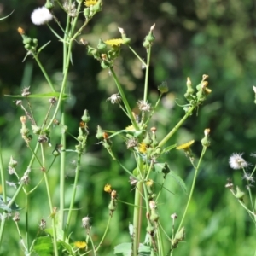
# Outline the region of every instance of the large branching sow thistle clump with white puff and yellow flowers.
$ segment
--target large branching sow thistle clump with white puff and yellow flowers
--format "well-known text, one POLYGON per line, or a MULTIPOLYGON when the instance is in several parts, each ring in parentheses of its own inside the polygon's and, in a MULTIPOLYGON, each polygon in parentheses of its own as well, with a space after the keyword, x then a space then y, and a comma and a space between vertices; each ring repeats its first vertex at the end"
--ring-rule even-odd
MULTIPOLYGON (((99 255, 102 242, 108 235, 109 224, 113 218, 113 214, 119 211, 118 205, 125 201, 124 195, 119 195, 119 191, 113 189, 111 181, 105 185, 104 191, 109 194, 108 210, 106 205, 106 211, 109 211, 109 218, 106 220, 106 230, 104 231, 102 238, 97 240, 93 236, 93 226, 91 225, 90 217, 85 216, 81 220, 81 229, 84 229, 84 236, 79 241, 73 241, 73 234, 76 230, 73 230, 71 225, 73 219, 74 201, 77 194, 77 187, 80 177, 81 169, 81 157, 84 154, 87 139, 89 137, 90 130, 90 114, 88 110, 84 110, 80 123, 78 124, 78 135, 74 135, 73 139, 75 144, 73 148, 66 147, 67 140, 67 123, 65 119, 64 107, 67 102, 67 77, 68 71, 72 64, 72 49, 73 44, 77 44, 79 36, 83 33, 84 27, 90 22, 90 20, 96 15, 97 12, 102 10, 101 0, 90 1, 50 1, 47 0, 44 7, 40 7, 32 12, 32 23, 39 26, 49 26, 50 32, 53 32, 57 38, 63 44, 63 77, 61 80, 61 90, 56 90, 56 86, 52 79, 49 77, 48 72, 45 70, 43 63, 40 61, 40 52, 48 46, 49 43, 44 44, 40 48, 40 42, 37 38, 31 38, 26 34, 24 29, 18 28, 18 32, 22 38, 24 48, 26 49, 26 58, 32 57, 40 67, 44 78, 49 84, 49 92, 45 94, 32 94, 30 87, 25 88, 20 96, 15 96, 17 100, 15 104, 18 108, 22 109, 23 115, 20 117, 20 135, 21 139, 26 143, 27 150, 32 152, 31 159, 28 160, 29 165, 23 174, 20 175, 16 172, 16 168, 19 163, 15 158, 10 157, 8 170, 9 175, 15 175, 17 182, 8 183, 5 168, 3 167, 3 160, 0 158, 1 166, 1 181, 3 195, 1 195, 1 227, 0 227, 0 242, 3 241, 4 226, 7 221, 10 221, 10 216, 13 217, 17 232, 20 236, 20 246, 25 255, 32 255, 37 253, 38 255, 99 255), (58 18, 54 15, 54 10, 57 8, 55 3, 63 10, 67 15, 66 25, 63 26, 58 18), (84 20, 82 26, 78 27, 78 20, 84 20), (56 22, 60 27, 59 31, 55 31, 50 22, 56 22), (61 36, 62 34, 62 36, 61 36), (38 117, 34 116, 32 112, 32 97, 38 98, 38 101, 44 101, 45 98, 49 98, 48 109, 44 113, 44 121, 39 124, 38 117), (52 145, 53 130, 55 127, 61 127, 61 133, 58 140, 60 143, 52 145), (47 157, 46 152, 48 148, 52 147, 52 158, 47 157), (69 205, 65 204, 66 186, 65 179, 65 165, 67 152, 72 151, 76 154, 76 170, 73 180, 73 192, 69 205), (54 191, 49 186, 49 172, 56 164, 55 160, 60 158, 59 170, 60 170, 60 201, 55 202, 52 200, 54 191), (31 184, 31 177, 33 166, 40 166, 41 180, 33 187, 31 184), (9 186, 15 187, 15 194, 9 194, 9 186), (44 218, 38 218, 39 228, 42 231, 42 236, 37 236, 31 242, 28 240, 29 222, 26 218, 28 215, 27 203, 24 209, 15 203, 18 195, 24 196, 24 201, 29 201, 29 196, 32 195, 39 187, 45 186, 45 193, 48 196, 49 204, 49 220, 44 218), (67 215, 64 215, 64 212, 67 215), (20 231, 20 218, 26 219, 26 234, 22 234, 20 231)), ((129 120, 130 125, 120 131, 108 131, 108 127, 97 126, 96 143, 102 144, 111 159, 118 162, 120 169, 127 173, 127 179, 130 180, 132 191, 134 191, 134 201, 128 202, 133 207, 133 216, 131 217, 131 224, 129 225, 130 241, 119 244, 114 247, 114 254, 116 255, 172 255, 174 249, 178 247, 181 241, 185 239, 185 227, 183 225, 186 213, 189 209, 189 202, 193 195, 195 188, 195 181, 201 165, 201 160, 206 153, 207 147, 210 146, 209 134, 210 129, 204 131, 204 137, 201 140, 202 152, 199 160, 195 160, 195 155, 192 152, 191 146, 194 143, 190 141, 183 145, 177 146, 168 145, 170 138, 173 134, 183 125, 183 122, 192 115, 192 113, 199 113, 201 104, 205 102, 207 96, 211 93, 211 90, 207 87, 207 75, 203 75, 201 82, 195 86, 192 86, 191 80, 188 78, 186 83, 186 93, 184 95, 187 101, 184 104, 183 118, 180 119, 176 125, 173 126, 165 136, 158 133, 157 126, 151 126, 150 120, 157 111, 160 105, 161 98, 166 92, 168 92, 168 85, 163 82, 158 86, 159 97, 156 102, 150 102, 148 99, 148 74, 151 49, 154 44, 154 26, 151 26, 143 41, 143 47, 146 50, 147 58, 143 61, 137 52, 131 47, 131 38, 128 38, 123 28, 119 28, 121 34, 120 38, 102 40, 99 39, 99 43, 94 46, 85 44, 88 55, 91 55, 97 61, 99 65, 108 70, 112 75, 113 82, 116 85, 116 93, 107 99, 106 104, 109 102, 113 104, 113 108, 117 105, 124 112, 125 117, 129 120), (128 47, 131 49, 131 53, 141 61, 142 66, 145 69, 144 90, 143 96, 137 99, 137 107, 140 113, 134 113, 132 108, 133 103, 128 102, 127 92, 120 84, 118 75, 115 73, 115 60, 119 57, 122 47, 128 47), (125 148, 134 157, 133 170, 125 167, 122 160, 119 160, 115 154, 117 148, 115 148, 115 137, 121 137, 125 148), (172 150, 176 148, 183 150, 184 154, 190 160, 191 165, 195 169, 195 174, 191 188, 189 190, 189 197, 184 208, 183 215, 177 216, 176 213, 167 212, 170 215, 170 224, 164 224, 161 222, 161 216, 158 212, 158 206, 160 202, 160 195, 162 189, 165 189, 166 176, 174 177, 183 189, 185 184, 181 177, 178 177, 175 172, 172 172, 167 162, 163 162, 161 156, 163 154, 171 154, 172 150), (160 189, 155 189, 154 180, 155 174, 162 177, 162 183, 160 189), (181 219, 177 224, 177 220, 181 219), (169 226, 169 229, 168 229, 169 226), (141 233, 146 231, 146 238, 142 242, 141 233), (168 241, 169 247, 164 247, 165 241, 168 241)), ((82 42, 83 43, 83 42, 82 42)), ((75 60, 74 60, 75 61, 75 60)), ((85 91, 86 93, 86 91, 85 91)), ((82 114, 82 113, 81 113, 82 114)), ((72 136, 72 135, 71 135, 72 136)), ((56 141, 56 138, 55 138, 56 141)), ((86 195, 86 193, 85 193, 86 195)), ((161 201, 162 203, 162 201, 161 201)), ((32 211, 32 210, 31 210, 32 211)), ((79 209, 83 212, 83 209, 79 209)), ((30 214, 32 214, 30 212, 30 214)), ((86 215, 86 212, 84 212, 86 215)), ((92 216, 93 217, 93 216, 92 216)), ((127 224, 128 230, 128 224, 127 224)))

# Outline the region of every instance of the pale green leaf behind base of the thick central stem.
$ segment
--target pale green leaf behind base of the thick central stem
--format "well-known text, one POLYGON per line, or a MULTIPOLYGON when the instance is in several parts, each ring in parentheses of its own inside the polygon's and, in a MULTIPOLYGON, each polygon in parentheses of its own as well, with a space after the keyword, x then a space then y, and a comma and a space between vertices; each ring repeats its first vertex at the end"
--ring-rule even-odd
MULTIPOLYGON (((132 254, 132 243, 124 242, 114 247, 113 253, 118 256, 131 256, 132 254)), ((150 247, 143 245, 143 243, 139 244, 138 255, 146 256, 150 255, 150 247)))

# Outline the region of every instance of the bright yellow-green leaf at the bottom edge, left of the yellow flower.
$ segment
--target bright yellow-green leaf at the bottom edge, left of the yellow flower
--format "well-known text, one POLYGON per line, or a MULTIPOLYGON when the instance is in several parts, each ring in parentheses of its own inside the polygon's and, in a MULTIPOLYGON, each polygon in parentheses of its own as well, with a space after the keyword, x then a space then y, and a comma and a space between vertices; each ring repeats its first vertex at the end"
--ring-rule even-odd
POLYGON ((49 236, 38 237, 32 247, 33 251, 40 256, 53 255, 53 243, 49 236))

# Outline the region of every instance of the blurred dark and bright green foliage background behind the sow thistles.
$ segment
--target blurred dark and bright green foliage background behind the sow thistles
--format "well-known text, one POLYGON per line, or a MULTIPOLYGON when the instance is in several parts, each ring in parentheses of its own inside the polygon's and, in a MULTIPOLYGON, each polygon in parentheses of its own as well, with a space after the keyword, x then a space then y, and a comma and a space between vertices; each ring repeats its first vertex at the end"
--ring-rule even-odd
MULTIPOLYGON (((150 125, 158 128, 158 137, 162 138, 167 131, 183 116, 183 109, 175 101, 184 103, 186 78, 190 77, 194 85, 201 81, 201 75, 209 75, 208 87, 212 94, 170 140, 169 144, 184 143, 195 139, 195 154, 201 154, 200 140, 205 128, 211 129, 212 145, 207 150, 201 165, 195 195, 189 215, 186 218, 186 241, 179 245, 175 255, 222 256, 254 255, 255 229, 246 212, 239 207, 230 191, 224 189, 227 178, 246 190, 245 181, 239 171, 234 172, 228 165, 230 154, 244 153, 245 159, 252 164, 255 159, 250 154, 256 151, 254 120, 254 93, 256 61, 256 12, 252 0, 184 0, 184 1, 103 1, 103 10, 87 26, 81 38, 96 46, 98 39, 119 38, 118 26, 125 29, 131 38, 131 45, 142 56, 143 38, 150 26, 154 29, 155 43, 152 50, 152 63, 149 81, 149 99, 155 102, 158 96, 157 85, 166 81, 169 93, 162 99, 160 108, 155 113, 150 125)), ((19 108, 15 107, 12 98, 4 95, 18 95, 22 88, 31 86, 32 93, 48 92, 49 88, 35 61, 26 55, 22 40, 17 32, 21 26, 32 38, 38 38, 39 45, 51 43, 40 54, 45 69, 55 84, 61 82, 61 43, 49 32, 47 26, 33 26, 30 20, 32 10, 44 5, 44 1, 18 0, 1 1, 0 17, 15 12, 0 22, 0 128, 3 160, 7 170, 9 157, 18 160, 17 172, 26 171, 31 153, 20 137, 19 108)), ((55 16, 60 22, 65 16, 60 9, 55 9, 55 16)), ((80 24, 83 18, 81 17, 80 24)), ((52 26, 58 30, 52 22, 52 26)), ((123 84, 131 106, 143 98, 143 69, 129 49, 123 47, 122 54, 114 67, 123 84)), ((74 136, 84 109, 91 116, 89 124, 90 137, 87 152, 83 156, 81 177, 79 181, 76 207, 73 212, 74 241, 84 239, 81 219, 91 218, 92 233, 100 241, 108 219, 109 195, 103 192, 106 183, 111 183, 122 201, 132 203, 133 190, 128 182, 129 177, 110 159, 95 137, 96 125, 103 129, 124 129, 130 125, 128 119, 116 105, 106 99, 116 93, 113 79, 108 70, 102 70, 99 63, 86 55, 84 45, 75 44, 73 48, 73 67, 69 73, 68 88, 70 99, 67 103, 68 131, 74 136)), ((47 111, 47 101, 32 100, 32 109, 38 124, 43 121, 47 111)), ((60 142, 61 129, 52 131, 52 143, 60 142)), ((75 142, 68 137, 67 148, 73 149, 75 142)), ((125 144, 118 138, 113 139, 113 150, 119 155, 122 163, 132 170, 134 160, 127 152, 125 144)), ((48 148, 51 158, 52 148, 48 148)), ((76 155, 67 154, 67 201, 73 186, 73 160, 76 155)), ((191 184, 193 170, 189 160, 182 152, 172 151, 166 154, 166 160, 172 171, 183 177, 188 188, 191 184)), ((55 205, 58 204, 58 163, 49 173, 55 205)), ((32 170, 31 187, 41 178, 37 166, 32 170)), ((8 180, 15 182, 14 177, 8 180)), ((172 177, 166 178, 166 188, 175 195, 165 191, 162 195, 159 212, 161 224, 171 234, 170 215, 176 212, 181 215, 187 195, 172 177)), ((157 187, 156 187, 157 189, 157 187)), ((252 188, 255 191, 254 188, 252 188)), ((30 230, 31 239, 38 234, 41 218, 49 220, 47 197, 44 183, 30 197, 30 230), (45 204, 45 206, 44 206, 45 204), (44 208, 42 209, 42 206, 44 208)), ((9 196, 15 192, 9 188, 9 196)), ((246 198, 247 201, 247 198, 246 198)), ((21 208, 25 206, 23 196, 17 200, 21 208)), ((24 234, 24 212, 20 212, 20 225, 24 234)), ((113 255, 113 247, 120 242, 130 241, 128 224, 132 222, 132 207, 119 203, 113 214, 113 221, 107 239, 102 244, 99 255, 113 255)), ((177 218, 178 221, 179 218, 177 218)), ((7 232, 3 241, 1 255, 23 255, 20 249, 19 236, 13 221, 8 221, 7 232)), ((166 244, 167 247, 167 244, 166 244)))

